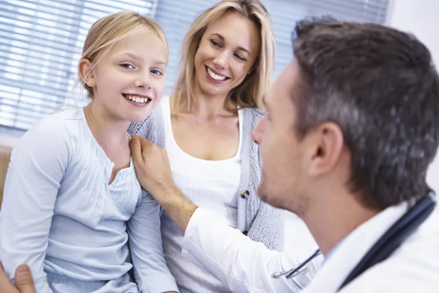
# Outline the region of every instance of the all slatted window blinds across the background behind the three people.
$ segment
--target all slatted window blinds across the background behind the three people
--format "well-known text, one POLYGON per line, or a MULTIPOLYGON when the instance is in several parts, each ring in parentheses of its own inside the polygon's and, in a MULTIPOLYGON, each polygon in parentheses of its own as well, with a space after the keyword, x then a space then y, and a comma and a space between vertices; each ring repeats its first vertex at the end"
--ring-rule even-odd
MULTIPOLYGON (((169 43, 166 94, 180 72, 181 42, 201 10, 217 0, 0 0, 0 126, 27 130, 71 103, 85 35, 99 18, 131 10, 155 18, 169 43)), ((275 77, 292 60, 296 21, 330 14, 384 23, 388 0, 262 0, 276 37, 275 77)))

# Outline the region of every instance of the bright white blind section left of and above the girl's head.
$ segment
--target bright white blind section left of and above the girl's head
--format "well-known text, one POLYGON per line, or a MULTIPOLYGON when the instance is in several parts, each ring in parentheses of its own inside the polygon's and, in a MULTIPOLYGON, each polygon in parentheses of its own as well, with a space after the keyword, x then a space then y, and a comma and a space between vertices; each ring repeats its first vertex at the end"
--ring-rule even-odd
MULTIPOLYGON (((26 130, 68 103, 90 26, 157 0, 0 0, 0 125, 26 130)), ((78 99, 77 93, 73 99, 78 99)))

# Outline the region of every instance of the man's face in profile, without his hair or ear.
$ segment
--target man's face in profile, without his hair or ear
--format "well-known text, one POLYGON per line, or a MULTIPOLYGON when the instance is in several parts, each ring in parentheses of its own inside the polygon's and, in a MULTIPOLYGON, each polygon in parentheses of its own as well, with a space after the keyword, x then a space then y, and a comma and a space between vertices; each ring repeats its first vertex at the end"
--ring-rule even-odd
POLYGON ((292 101, 300 82, 299 64, 290 63, 264 96, 268 114, 255 127, 252 138, 262 157, 260 198, 282 209, 294 211, 301 204, 303 144, 296 131, 297 109, 292 101), (300 184, 298 184, 300 183, 300 184))

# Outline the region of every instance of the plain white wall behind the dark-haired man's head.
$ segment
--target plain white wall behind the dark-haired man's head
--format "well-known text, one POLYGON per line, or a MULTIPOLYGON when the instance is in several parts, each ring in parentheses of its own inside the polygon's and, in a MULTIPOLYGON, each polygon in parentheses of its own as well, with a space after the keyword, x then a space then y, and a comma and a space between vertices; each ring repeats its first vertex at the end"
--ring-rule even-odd
MULTIPOLYGON (((388 25, 413 33, 433 55, 439 68, 439 1, 393 0, 388 25)), ((430 166, 427 182, 439 193, 439 156, 430 166)))

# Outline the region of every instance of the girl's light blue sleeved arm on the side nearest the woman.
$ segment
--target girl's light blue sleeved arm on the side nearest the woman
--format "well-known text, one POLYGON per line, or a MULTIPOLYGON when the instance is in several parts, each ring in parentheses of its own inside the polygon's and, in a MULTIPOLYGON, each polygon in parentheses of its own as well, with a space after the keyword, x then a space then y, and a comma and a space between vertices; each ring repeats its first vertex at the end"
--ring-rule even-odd
POLYGON ((128 221, 127 230, 139 292, 178 292, 161 246, 160 206, 143 188, 141 202, 128 221))

